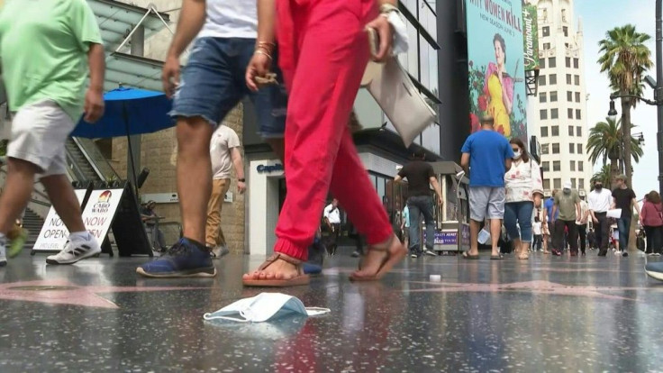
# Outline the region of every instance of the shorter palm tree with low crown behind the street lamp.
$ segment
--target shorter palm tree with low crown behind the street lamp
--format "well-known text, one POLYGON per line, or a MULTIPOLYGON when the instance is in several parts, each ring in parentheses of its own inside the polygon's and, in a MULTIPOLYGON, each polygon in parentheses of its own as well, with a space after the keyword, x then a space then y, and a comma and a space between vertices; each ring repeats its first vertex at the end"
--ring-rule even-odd
MULTIPOLYGON (((631 124, 631 128, 635 125, 631 124)), ((631 131, 629 131, 629 135, 631 131)), ((623 131, 622 120, 615 121, 610 117, 605 118, 605 122, 596 123, 595 126, 589 130, 589 138, 587 140, 587 151, 589 151, 589 160, 593 164, 601 159, 602 165, 607 167, 608 160, 610 160, 609 177, 611 181, 620 173, 620 164, 625 163, 624 155, 626 154, 625 147, 623 146, 623 131)), ((640 146, 640 141, 631 136, 631 158, 636 163, 640 161, 643 151, 640 146)), ((629 162, 629 164, 631 164, 629 162)), ((605 183, 605 186, 610 186, 612 183, 605 183)))

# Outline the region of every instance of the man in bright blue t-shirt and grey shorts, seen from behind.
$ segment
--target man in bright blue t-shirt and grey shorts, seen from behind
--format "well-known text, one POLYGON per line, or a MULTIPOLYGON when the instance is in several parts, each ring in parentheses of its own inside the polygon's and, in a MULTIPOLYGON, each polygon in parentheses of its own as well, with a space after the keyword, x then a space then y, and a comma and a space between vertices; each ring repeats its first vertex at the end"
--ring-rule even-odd
POLYGON ((514 157, 511 144, 495 132, 492 117, 481 118, 481 130, 469 135, 463 144, 460 166, 469 175, 469 239, 465 259, 478 259, 478 233, 481 223, 490 222, 491 259, 502 259, 498 242, 504 219, 504 174, 514 157))

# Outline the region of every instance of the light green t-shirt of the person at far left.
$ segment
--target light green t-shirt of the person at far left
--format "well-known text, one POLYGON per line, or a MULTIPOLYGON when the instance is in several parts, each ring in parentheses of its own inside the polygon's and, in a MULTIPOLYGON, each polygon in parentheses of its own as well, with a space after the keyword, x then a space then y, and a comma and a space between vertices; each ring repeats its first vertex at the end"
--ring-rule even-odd
POLYGON ((0 10, 0 63, 9 110, 50 99, 77 122, 87 50, 101 32, 85 0, 8 0, 0 10))

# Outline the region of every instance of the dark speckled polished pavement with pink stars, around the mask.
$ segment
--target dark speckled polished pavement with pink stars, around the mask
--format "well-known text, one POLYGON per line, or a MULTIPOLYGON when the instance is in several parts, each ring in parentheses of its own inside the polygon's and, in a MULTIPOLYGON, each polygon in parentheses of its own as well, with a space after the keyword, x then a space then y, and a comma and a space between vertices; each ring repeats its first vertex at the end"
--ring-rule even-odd
POLYGON ((216 260, 213 279, 147 279, 135 274, 147 259, 22 255, 0 268, 0 372, 663 370, 663 282, 643 257, 488 259, 407 259, 353 284, 356 259, 340 253, 310 286, 281 290, 331 314, 247 324, 203 314, 269 291, 241 286, 260 258, 216 260))

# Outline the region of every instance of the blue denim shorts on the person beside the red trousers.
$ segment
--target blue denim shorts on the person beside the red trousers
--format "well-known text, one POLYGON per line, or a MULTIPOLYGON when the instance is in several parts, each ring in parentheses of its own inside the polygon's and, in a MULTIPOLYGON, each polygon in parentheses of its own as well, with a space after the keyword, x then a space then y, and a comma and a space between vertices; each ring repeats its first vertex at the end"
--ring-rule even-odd
POLYGON ((255 39, 197 39, 182 71, 170 116, 200 116, 216 127, 242 98, 249 96, 256 108, 259 134, 264 138, 283 137, 287 94, 276 53, 272 72, 277 74, 279 85, 251 92, 244 80, 255 44, 255 39))

